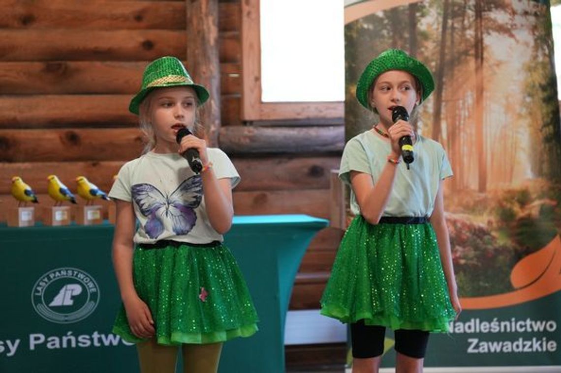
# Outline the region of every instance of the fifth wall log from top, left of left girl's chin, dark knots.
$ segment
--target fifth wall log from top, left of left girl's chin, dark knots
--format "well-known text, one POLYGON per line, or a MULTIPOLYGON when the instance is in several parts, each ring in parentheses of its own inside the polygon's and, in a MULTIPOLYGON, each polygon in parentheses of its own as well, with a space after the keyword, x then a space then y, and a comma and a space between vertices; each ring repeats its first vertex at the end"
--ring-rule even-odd
POLYGON ((137 128, 0 130, 0 162, 130 160, 142 151, 137 128))

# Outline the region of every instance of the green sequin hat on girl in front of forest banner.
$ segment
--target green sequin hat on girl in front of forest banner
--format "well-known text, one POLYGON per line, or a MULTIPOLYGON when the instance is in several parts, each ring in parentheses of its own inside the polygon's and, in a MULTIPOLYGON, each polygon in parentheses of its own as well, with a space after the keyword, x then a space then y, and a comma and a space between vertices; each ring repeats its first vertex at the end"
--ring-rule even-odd
POLYGON ((366 109, 373 109, 368 102, 368 91, 372 83, 381 73, 390 70, 406 71, 419 80, 421 83, 421 102, 425 101, 434 90, 433 75, 424 64, 401 49, 387 49, 370 61, 358 79, 356 98, 366 109))

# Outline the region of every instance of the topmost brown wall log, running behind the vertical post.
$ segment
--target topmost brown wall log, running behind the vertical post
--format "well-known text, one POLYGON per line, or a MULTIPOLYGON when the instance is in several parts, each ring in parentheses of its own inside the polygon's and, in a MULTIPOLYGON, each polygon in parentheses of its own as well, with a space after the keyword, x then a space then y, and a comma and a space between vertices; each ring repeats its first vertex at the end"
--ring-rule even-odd
MULTIPOLYGON (((3 1, 2 29, 185 30, 185 0, 3 1)), ((219 3, 219 31, 240 31, 240 3, 219 3)))

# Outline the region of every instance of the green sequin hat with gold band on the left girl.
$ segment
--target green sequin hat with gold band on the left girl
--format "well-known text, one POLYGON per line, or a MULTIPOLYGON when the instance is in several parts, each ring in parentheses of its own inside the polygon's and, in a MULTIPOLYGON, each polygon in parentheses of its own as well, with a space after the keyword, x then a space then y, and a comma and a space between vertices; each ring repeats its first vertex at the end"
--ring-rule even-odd
POLYGON ((195 84, 180 60, 176 57, 165 56, 146 66, 142 75, 140 92, 132 97, 128 110, 138 115, 140 103, 154 88, 175 86, 192 87, 199 98, 199 105, 203 105, 210 97, 209 91, 204 86, 195 84))

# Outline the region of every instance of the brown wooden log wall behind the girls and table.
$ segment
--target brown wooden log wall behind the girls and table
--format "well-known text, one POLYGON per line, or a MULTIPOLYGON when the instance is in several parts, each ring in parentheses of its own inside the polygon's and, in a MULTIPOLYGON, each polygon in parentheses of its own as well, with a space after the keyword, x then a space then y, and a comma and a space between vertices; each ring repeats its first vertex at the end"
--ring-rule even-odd
MULTIPOLYGON (((13 175, 46 206, 52 204, 49 174, 71 190, 76 176, 84 175, 108 191, 119 167, 142 148, 137 118, 127 110, 142 71, 162 55, 186 60, 189 35, 185 0, 0 0, 0 7, 2 222, 6 209, 17 204, 10 195, 13 175)), ((218 12, 218 142, 242 177, 234 190, 236 214, 329 218, 330 170, 339 165, 343 126, 242 123, 241 3, 221 0, 218 12), (316 139, 314 146, 309 138, 316 139)), ((314 239, 291 309, 318 308, 340 240, 338 229, 314 239)))

